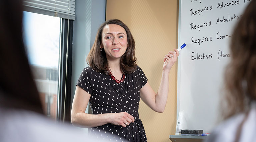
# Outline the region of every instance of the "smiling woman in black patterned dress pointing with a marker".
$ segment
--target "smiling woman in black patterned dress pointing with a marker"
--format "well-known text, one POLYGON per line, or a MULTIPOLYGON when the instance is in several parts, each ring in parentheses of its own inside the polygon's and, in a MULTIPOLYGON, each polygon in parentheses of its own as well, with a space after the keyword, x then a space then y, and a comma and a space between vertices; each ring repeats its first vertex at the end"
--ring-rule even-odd
POLYGON ((129 28, 117 19, 103 23, 87 57, 90 66, 77 82, 71 122, 94 127, 92 135, 103 131, 110 132, 108 139, 117 135, 123 137, 121 141, 147 141, 138 114, 140 98, 154 111, 164 111, 169 72, 179 55, 174 50, 164 57, 162 79, 155 93, 136 64, 135 42, 129 28), (88 102, 93 114, 84 113, 88 102))

